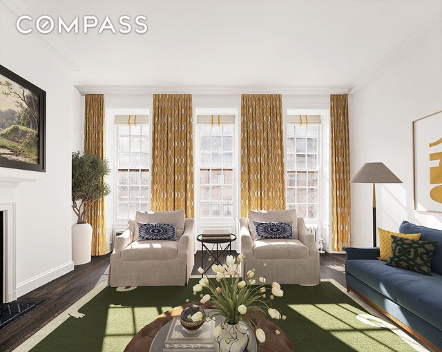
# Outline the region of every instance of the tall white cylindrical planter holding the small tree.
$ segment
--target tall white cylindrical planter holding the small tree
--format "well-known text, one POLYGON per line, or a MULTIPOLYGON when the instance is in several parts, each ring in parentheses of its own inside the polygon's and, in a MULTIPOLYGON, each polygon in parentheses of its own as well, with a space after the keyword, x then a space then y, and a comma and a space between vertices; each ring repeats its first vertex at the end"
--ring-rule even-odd
POLYGON ((92 253, 92 226, 75 224, 72 226, 72 260, 75 265, 90 262, 92 253))

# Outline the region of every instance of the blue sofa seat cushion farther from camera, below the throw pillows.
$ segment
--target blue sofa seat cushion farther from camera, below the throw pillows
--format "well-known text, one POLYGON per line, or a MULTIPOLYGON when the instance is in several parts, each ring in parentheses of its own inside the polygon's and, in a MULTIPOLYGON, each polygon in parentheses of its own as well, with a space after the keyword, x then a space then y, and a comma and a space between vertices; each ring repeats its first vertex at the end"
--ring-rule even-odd
POLYGON ((394 302, 397 302, 396 291, 399 284, 422 280, 432 281, 441 277, 440 275, 422 275, 407 269, 388 266, 381 260, 347 260, 345 268, 347 273, 394 302))

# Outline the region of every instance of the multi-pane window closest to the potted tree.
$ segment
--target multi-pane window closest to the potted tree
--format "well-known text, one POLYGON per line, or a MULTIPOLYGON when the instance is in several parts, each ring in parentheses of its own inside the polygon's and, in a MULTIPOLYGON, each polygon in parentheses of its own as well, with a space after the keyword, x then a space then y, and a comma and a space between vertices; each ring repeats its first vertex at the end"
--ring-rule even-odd
POLYGON ((137 124, 128 124, 129 118, 115 117, 117 219, 134 219, 136 211, 150 210, 151 141, 147 116, 137 117, 137 124), (126 121, 123 124, 121 120, 126 121))

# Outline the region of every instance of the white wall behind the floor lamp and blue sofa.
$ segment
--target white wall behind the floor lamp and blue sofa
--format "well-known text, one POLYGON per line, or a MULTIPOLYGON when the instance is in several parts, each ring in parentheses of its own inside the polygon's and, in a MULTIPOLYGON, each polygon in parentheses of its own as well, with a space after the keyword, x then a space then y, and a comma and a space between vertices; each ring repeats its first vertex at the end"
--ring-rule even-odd
MULTIPOLYGON (((377 186, 377 224, 390 231, 404 219, 442 228, 442 214, 413 210, 412 160, 412 121, 442 110, 442 30, 412 49, 349 96, 352 176, 365 162, 383 162, 403 181, 377 186)), ((369 184, 352 184, 352 244, 372 246, 369 184)))

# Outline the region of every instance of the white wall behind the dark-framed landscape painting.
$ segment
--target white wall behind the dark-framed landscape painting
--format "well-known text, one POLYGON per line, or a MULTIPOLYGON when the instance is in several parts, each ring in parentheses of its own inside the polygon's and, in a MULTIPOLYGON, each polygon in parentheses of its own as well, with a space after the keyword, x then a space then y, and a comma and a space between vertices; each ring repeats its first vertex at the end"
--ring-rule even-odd
POLYGON ((17 296, 73 270, 70 240, 70 67, 37 35, 15 31, 17 16, 0 3, 0 63, 46 90, 46 173, 0 168, 0 177, 26 177, 1 202, 17 203, 17 296))

